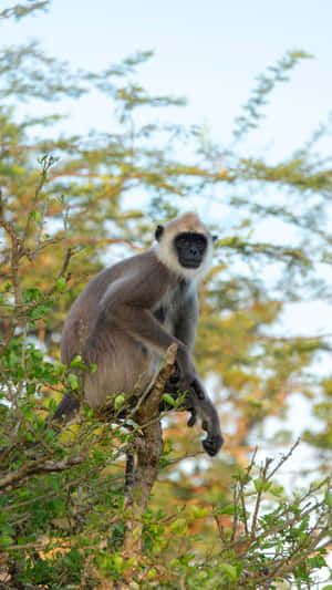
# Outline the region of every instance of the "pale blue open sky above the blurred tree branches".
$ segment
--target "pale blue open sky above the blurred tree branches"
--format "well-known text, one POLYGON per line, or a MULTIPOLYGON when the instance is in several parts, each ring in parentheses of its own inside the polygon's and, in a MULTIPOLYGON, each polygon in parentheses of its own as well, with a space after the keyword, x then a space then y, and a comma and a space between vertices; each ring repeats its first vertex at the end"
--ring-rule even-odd
MULTIPOLYGON (((0 0, 0 8, 12 3, 0 0)), ((262 132, 251 139, 252 147, 269 144, 282 157, 331 108, 331 0, 54 0, 46 14, 3 21, 0 44, 39 38, 49 53, 86 69, 153 49, 156 55, 142 68, 142 83, 152 92, 187 96, 189 106, 174 117, 209 124, 221 143, 230 139, 255 75, 286 50, 303 49, 315 59, 304 61, 292 83, 277 90, 262 132)), ((108 112, 106 101, 84 100, 75 105, 71 131, 103 128, 108 112)))

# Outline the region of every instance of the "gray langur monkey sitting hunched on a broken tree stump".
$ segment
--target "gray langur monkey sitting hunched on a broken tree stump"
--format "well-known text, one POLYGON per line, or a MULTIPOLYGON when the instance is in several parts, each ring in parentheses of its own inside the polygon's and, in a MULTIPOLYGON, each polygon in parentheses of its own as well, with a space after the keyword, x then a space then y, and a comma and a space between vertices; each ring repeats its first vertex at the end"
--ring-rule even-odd
MULTIPOLYGON (((131 401, 137 385, 142 393, 175 342, 176 376, 165 391, 175 397, 187 391, 188 425, 200 418, 207 432, 203 446, 214 456, 224 443, 219 418, 191 354, 199 314, 197 282, 210 267, 216 238, 193 213, 158 226, 155 237, 156 246, 87 283, 64 322, 61 360, 70 365, 80 354, 87 366, 97 366, 84 376, 84 397, 97 408, 116 393, 131 401)), ((77 408, 79 401, 66 393, 54 418, 69 418, 77 408)))

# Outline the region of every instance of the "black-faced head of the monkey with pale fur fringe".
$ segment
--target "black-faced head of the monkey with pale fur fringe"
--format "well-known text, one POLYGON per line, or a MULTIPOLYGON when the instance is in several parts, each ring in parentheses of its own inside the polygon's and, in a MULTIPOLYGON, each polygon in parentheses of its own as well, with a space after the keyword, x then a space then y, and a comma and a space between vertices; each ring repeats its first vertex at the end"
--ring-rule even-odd
POLYGON ((188 213, 158 226, 155 237, 157 257, 176 275, 190 280, 209 269, 217 237, 211 236, 197 215, 188 213))

